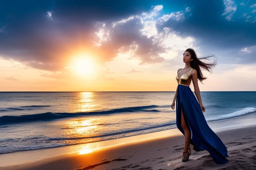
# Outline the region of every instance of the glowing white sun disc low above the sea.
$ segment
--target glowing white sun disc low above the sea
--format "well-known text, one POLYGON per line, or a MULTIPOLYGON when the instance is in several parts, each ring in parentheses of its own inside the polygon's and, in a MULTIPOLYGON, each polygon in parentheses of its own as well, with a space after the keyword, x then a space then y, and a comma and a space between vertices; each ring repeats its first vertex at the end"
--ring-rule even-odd
POLYGON ((74 58, 73 68, 79 75, 91 75, 93 73, 93 62, 89 57, 74 58))

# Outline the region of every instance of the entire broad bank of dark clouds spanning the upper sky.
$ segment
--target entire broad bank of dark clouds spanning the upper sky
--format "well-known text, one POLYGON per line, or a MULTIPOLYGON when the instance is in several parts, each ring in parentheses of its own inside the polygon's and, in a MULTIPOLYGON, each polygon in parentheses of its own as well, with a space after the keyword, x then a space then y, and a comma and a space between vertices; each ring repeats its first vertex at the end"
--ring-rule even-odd
MULTIPOLYGON (((225 15, 233 16, 236 4, 224 2, 225 15)), ((24 8, 4 28, 8 34, 0 34, 1 55, 29 68, 65 72, 77 51, 89 51, 89 56, 101 65, 119 53, 130 53, 130 59, 137 59, 143 65, 169 62, 199 42, 220 48, 255 42, 252 27, 223 24, 215 15, 207 13, 210 7, 222 13, 222 2, 182 5, 183 10, 168 13, 164 11, 169 10, 168 6, 142 6, 142 1, 80 3, 83 8, 77 8, 73 2, 60 2, 57 10, 42 4, 38 6, 43 6, 43 10, 35 8, 33 12, 24 8), (87 3, 93 10, 87 8, 87 3), (236 34, 238 31, 243 31, 243 36, 236 34), (238 38, 241 41, 233 41, 238 38)))

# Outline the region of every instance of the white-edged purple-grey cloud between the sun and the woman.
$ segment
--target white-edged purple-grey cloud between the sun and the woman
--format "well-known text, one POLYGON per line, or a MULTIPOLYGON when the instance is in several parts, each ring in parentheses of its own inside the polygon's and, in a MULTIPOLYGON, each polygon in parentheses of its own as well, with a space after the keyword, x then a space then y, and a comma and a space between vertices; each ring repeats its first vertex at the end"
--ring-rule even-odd
MULTIPOLYGON (((155 6, 153 9, 161 10, 162 8, 155 6)), ((190 11, 189 8, 186 9, 190 11)), ((164 15, 164 21, 170 19, 179 20, 181 16, 185 19, 184 13, 187 12, 172 12, 168 17, 164 15)), ((113 58, 117 55, 117 52, 129 52, 131 53, 130 59, 136 58, 141 60, 139 65, 164 62, 165 58, 161 57, 160 54, 165 53, 169 47, 162 44, 164 39, 161 38, 164 37, 160 38, 160 36, 158 36, 162 33, 158 32, 156 28, 157 24, 164 21, 159 20, 159 18, 147 20, 150 19, 151 16, 151 13, 150 15, 145 13, 141 16, 133 15, 113 22, 111 27, 109 23, 102 23, 101 27, 99 27, 100 31, 96 33, 99 36, 98 41, 95 41, 95 43, 98 44, 99 49, 103 50, 104 54, 107 55, 106 58, 113 58)), ((154 16, 156 17, 157 15, 154 16)), ((163 16, 160 18, 163 18, 163 16)), ((166 33, 165 35, 168 34, 166 33)))

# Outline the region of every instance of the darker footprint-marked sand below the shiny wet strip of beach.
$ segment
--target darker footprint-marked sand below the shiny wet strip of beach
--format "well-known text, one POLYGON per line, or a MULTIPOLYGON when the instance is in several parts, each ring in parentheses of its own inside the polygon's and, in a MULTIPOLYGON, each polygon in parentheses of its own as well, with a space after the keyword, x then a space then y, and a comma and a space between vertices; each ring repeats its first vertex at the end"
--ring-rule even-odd
MULTIPOLYGON (((186 166, 191 167, 190 169, 196 167, 207 168, 208 166, 211 168, 215 167, 214 169, 221 169, 229 166, 244 166, 246 160, 248 164, 247 169, 256 168, 256 125, 243 125, 237 128, 219 130, 216 134, 228 149, 230 157, 228 158, 229 162, 226 164, 216 164, 208 151, 197 152, 193 150, 193 147, 191 147, 192 154, 189 157, 189 161, 181 162, 184 136, 176 133, 151 139, 130 141, 94 150, 84 148, 84 153, 70 152, 21 164, 2 166, 1 169, 85 170, 93 168, 94 170, 102 170, 121 167, 132 169, 134 166, 142 169, 175 169, 178 167, 186 169, 186 166)), ((32 154, 31 156, 35 155, 32 154)), ((13 157, 12 159, 17 161, 19 158, 13 157)))

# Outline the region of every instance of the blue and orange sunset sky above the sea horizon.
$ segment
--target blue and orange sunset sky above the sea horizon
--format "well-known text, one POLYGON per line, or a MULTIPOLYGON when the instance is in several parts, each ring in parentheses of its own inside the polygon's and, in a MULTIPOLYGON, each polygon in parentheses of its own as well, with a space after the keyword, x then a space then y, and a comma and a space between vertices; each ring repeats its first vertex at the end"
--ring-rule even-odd
POLYGON ((255 30, 255 0, 0 1, 0 91, 176 91, 187 48, 200 91, 255 91, 255 30))

